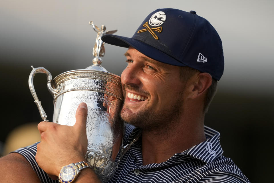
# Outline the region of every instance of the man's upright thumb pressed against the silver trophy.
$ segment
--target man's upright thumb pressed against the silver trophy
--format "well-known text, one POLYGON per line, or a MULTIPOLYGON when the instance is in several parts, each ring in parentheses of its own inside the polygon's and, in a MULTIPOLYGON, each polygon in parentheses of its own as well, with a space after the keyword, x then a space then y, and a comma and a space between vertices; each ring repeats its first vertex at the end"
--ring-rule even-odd
POLYGON ((84 130, 86 130, 86 116, 88 114, 88 107, 86 105, 86 103, 82 102, 81 104, 79 104, 77 110, 76 110, 76 114, 75 114, 75 118, 76 118, 76 122, 74 124, 74 128, 82 128, 84 130))

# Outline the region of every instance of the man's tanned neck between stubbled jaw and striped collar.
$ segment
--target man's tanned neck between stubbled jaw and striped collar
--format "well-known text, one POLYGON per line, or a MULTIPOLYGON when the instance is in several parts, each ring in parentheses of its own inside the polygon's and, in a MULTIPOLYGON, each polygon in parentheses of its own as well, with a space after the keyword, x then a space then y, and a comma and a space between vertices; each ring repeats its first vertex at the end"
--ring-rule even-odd
POLYGON ((165 162, 174 154, 205 141, 203 123, 190 124, 179 123, 163 130, 142 130, 143 165, 165 162))

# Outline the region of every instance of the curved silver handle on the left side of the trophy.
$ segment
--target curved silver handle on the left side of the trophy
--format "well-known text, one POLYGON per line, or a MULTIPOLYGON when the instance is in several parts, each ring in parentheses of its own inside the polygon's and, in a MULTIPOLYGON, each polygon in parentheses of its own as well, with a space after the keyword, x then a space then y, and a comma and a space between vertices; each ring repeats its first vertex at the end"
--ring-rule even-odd
POLYGON ((38 99, 38 97, 36 95, 36 92, 35 92, 35 89, 34 89, 34 85, 33 85, 33 78, 34 78, 34 75, 36 73, 45 73, 47 75, 47 80, 48 80, 47 81, 47 87, 48 87, 49 92, 51 93, 51 95, 54 96, 56 94, 56 90, 51 87, 52 76, 51 76, 51 73, 47 69, 45 69, 44 67, 37 67, 37 68, 33 68, 33 66, 31 66, 31 67, 32 67, 32 71, 31 71, 31 73, 29 75, 29 89, 31 91, 31 94, 32 94, 34 100, 35 100, 34 102, 35 102, 35 104, 38 107, 38 110, 40 112, 41 118, 44 121, 49 121, 49 120, 47 120, 47 115, 46 115, 46 113, 45 113, 45 111, 44 111, 44 109, 43 109, 43 107, 41 105, 41 101, 39 101, 39 99, 38 99))

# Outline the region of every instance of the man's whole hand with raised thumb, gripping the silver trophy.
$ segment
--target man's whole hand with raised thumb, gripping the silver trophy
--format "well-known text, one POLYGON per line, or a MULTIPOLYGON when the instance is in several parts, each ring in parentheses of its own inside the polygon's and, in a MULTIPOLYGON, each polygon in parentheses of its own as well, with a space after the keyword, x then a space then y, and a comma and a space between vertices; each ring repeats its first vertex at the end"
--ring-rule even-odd
POLYGON ((58 176, 62 166, 85 160, 88 145, 86 116, 87 106, 81 103, 76 111, 74 126, 52 122, 38 124, 41 143, 37 145, 35 159, 47 174, 58 176))

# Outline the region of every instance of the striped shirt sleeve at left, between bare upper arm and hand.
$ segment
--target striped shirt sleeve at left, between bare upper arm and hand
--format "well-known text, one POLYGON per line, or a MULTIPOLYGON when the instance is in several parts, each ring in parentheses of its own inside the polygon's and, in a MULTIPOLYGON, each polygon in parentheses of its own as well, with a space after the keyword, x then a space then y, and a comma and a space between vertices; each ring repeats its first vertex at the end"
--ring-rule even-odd
MULTIPOLYGON (((42 183, 58 183, 58 180, 53 180, 53 179, 49 178, 48 174, 38 166, 38 164, 35 160, 35 155, 37 152, 37 144, 39 144, 39 143, 40 142, 36 142, 35 144, 32 144, 32 145, 24 147, 24 148, 17 149, 13 152, 21 154, 28 160, 28 162, 31 164, 31 167, 36 172, 36 174, 38 175, 38 177, 42 183)), ((11 152, 11 153, 13 153, 13 152, 11 152)))

